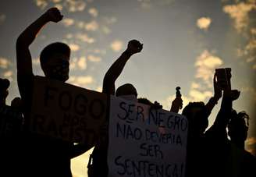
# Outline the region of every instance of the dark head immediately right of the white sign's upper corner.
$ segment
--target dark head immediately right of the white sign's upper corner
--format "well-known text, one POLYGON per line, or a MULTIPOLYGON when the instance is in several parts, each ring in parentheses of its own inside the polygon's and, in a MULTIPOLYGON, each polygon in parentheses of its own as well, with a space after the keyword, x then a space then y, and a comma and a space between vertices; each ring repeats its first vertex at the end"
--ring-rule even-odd
POLYGON ((206 113, 204 102, 190 102, 183 108, 182 114, 187 117, 191 132, 204 133, 208 127, 208 116, 206 113))

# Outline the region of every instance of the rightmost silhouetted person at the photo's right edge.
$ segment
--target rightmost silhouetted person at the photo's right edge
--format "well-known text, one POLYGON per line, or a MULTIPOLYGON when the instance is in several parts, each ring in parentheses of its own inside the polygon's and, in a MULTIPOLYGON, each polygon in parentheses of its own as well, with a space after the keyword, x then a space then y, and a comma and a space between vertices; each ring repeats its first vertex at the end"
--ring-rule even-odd
POLYGON ((228 124, 229 161, 226 173, 229 176, 254 176, 256 175, 256 158, 244 148, 249 128, 249 115, 246 112, 236 113, 233 110, 228 124))

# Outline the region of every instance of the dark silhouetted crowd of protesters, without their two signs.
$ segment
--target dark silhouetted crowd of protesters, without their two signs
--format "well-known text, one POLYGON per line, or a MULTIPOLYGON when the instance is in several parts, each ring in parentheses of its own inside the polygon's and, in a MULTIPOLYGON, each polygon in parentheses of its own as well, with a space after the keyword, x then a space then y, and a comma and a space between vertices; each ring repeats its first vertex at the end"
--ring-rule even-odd
MULTIPOLYGON (((20 176, 71 177, 70 160, 89 150, 86 144, 74 144, 31 133, 29 130, 35 78, 30 45, 44 25, 50 22, 58 23, 62 18, 59 9, 48 9, 17 38, 16 65, 20 97, 14 98, 11 106, 5 104, 9 94, 9 80, 0 79, 1 176, 14 176, 18 171, 20 176), (16 112, 12 121, 9 121, 9 129, 6 128, 6 119, 9 119, 6 110, 16 112), (13 169, 13 166, 16 168, 13 169)), ((157 101, 153 103, 146 97, 138 97, 136 87, 131 83, 125 83, 116 89, 116 80, 126 63, 142 49, 143 44, 140 41, 129 41, 126 50, 105 73, 102 93, 148 104, 153 109, 161 109, 162 105, 157 101)), ((69 79, 69 58, 70 48, 67 44, 48 44, 40 54, 41 69, 45 78, 65 83, 69 79)), ((256 175, 255 157, 245 150, 249 115, 233 109, 233 101, 240 97, 240 91, 231 88, 230 80, 231 69, 216 69, 213 76, 213 97, 206 104, 203 101, 190 102, 184 108, 180 87, 176 87, 176 98, 172 101, 170 112, 179 113, 183 108, 182 115, 185 115, 189 122, 186 176, 256 175), (219 113, 213 125, 208 127, 209 116, 218 103, 221 104, 219 113)), ((102 137, 95 144, 87 165, 89 177, 108 176, 108 119, 110 118, 107 116, 102 137)))

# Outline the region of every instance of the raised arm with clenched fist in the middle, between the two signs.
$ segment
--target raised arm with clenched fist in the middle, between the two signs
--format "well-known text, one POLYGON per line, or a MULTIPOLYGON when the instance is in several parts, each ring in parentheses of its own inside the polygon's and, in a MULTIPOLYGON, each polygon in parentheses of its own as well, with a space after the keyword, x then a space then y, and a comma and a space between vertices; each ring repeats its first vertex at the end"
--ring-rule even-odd
POLYGON ((122 73, 126 62, 129 60, 131 55, 140 52, 142 48, 143 44, 140 44, 140 42, 137 40, 132 40, 128 43, 126 51, 124 51, 123 54, 119 56, 116 62, 114 62, 108 69, 107 73, 105 73, 102 89, 103 93, 115 95, 115 82, 119 75, 122 73))

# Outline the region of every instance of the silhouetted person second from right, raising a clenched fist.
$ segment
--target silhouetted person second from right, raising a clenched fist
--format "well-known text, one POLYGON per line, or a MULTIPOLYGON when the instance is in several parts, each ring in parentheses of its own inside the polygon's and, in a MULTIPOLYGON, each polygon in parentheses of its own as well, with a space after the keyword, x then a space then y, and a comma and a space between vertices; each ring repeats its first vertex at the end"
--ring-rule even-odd
POLYGON ((207 158, 204 158, 204 163, 201 165, 201 176, 233 176, 230 175, 230 171, 232 172, 233 170, 228 169, 230 145, 227 139, 226 127, 233 114, 233 101, 240 96, 240 91, 231 90, 230 78, 231 74, 227 79, 228 84, 222 84, 222 104, 215 122, 204 133, 203 154, 207 158))

